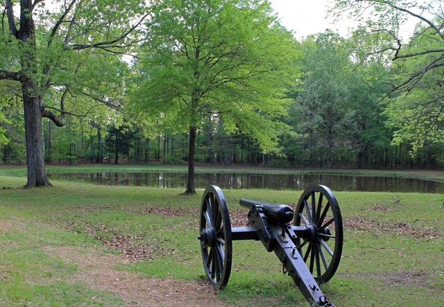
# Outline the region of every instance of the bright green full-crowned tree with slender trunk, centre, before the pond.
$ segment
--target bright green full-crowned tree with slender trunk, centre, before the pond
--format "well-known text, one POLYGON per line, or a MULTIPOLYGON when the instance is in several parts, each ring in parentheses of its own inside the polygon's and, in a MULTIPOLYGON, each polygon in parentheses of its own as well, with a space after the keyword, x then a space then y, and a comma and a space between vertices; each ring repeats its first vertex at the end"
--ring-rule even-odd
POLYGON ((152 8, 131 99, 148 116, 189 131, 186 194, 194 189, 196 133, 223 117, 228 132, 274 150, 286 85, 296 80, 296 42, 268 1, 164 0, 152 8))

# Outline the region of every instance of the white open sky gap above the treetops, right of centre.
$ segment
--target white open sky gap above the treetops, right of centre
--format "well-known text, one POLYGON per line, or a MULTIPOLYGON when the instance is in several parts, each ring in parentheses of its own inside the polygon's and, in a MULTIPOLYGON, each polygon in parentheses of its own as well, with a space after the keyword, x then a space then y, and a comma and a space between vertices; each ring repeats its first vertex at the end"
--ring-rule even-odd
POLYGON ((348 26, 352 22, 341 21, 339 24, 331 24, 332 18, 325 19, 327 8, 331 1, 328 0, 269 0, 271 6, 278 13, 282 26, 295 32, 298 39, 307 35, 324 32, 330 28, 346 36, 348 26))

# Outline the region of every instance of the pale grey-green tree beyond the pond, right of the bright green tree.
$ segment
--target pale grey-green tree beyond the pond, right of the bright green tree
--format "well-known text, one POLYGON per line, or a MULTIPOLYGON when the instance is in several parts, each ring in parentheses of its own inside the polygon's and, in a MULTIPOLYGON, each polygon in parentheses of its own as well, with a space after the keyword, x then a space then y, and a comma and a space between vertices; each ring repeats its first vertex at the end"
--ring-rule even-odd
POLYGON ((292 115, 299 117, 296 132, 305 135, 311 159, 332 167, 334 155, 356 151, 350 133, 355 130, 356 114, 350 105, 351 62, 344 40, 327 31, 309 37, 301 44, 302 89, 292 115))

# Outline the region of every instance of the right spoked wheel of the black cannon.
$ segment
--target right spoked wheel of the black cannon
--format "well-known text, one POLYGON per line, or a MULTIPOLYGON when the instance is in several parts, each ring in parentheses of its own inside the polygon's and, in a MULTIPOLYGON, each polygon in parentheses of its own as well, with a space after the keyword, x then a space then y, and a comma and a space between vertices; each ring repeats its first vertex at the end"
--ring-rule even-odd
POLYGON ((307 236, 297 238, 296 246, 318 283, 329 281, 341 261, 342 216, 330 188, 309 186, 298 202, 295 226, 305 226, 307 236))

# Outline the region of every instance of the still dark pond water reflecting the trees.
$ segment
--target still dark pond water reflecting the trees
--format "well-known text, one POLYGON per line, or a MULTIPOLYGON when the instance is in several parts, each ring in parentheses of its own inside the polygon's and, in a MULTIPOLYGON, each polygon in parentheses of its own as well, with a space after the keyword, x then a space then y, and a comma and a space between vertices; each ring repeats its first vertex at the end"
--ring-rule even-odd
MULTIPOLYGON (((185 188, 187 173, 97 172, 48 173, 49 179, 67 179, 94 184, 185 188)), ((371 177, 321 174, 196 173, 196 188, 216 184, 222 189, 270 188, 304 190, 311 184, 325 184, 332 191, 444 193, 444 182, 417 178, 371 177)))

